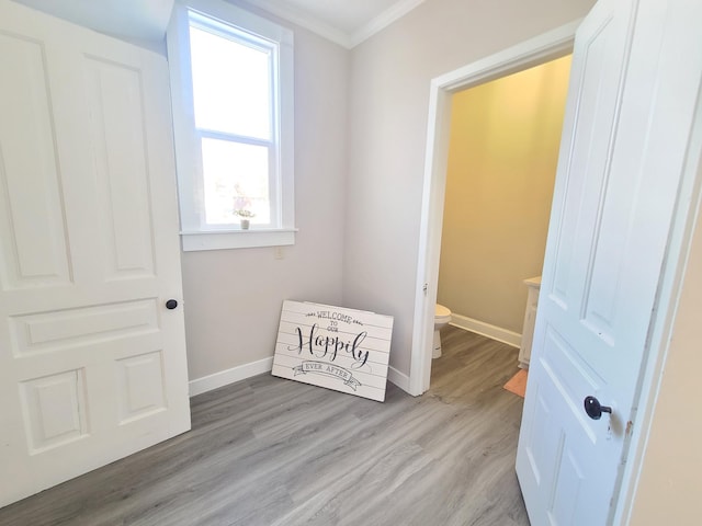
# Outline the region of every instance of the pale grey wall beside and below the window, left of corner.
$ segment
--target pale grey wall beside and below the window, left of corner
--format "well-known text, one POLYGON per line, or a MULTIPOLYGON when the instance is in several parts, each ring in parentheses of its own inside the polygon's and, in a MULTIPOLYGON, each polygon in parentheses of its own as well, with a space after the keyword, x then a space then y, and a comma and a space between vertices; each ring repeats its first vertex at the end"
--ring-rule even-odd
POLYGON ((182 254, 190 379, 273 356, 284 299, 341 304, 349 52, 295 34, 294 247, 182 254))

